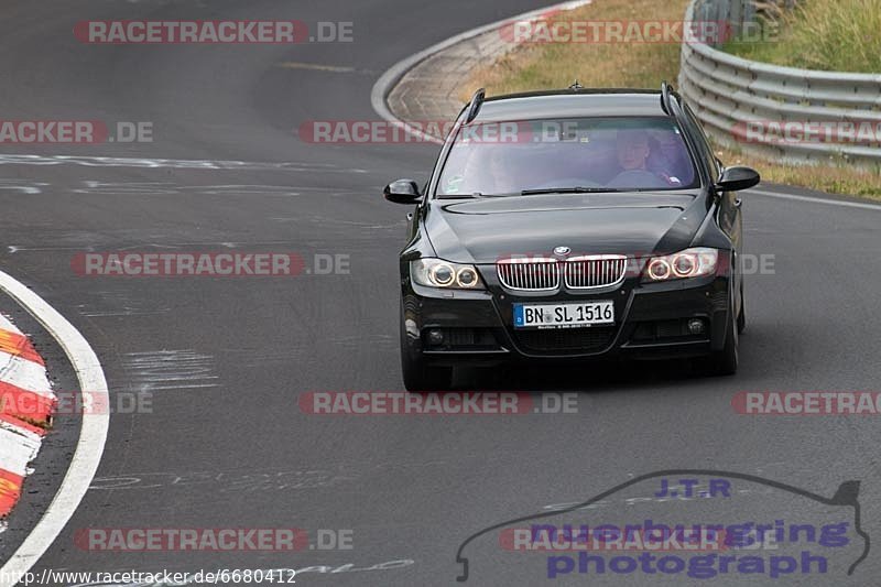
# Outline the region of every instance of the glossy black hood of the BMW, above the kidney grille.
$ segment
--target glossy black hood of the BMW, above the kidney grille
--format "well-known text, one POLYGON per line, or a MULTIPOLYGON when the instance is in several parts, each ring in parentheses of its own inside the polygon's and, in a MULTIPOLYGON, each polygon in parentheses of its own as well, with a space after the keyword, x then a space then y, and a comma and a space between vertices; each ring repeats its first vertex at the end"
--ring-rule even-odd
POLYGON ((688 247, 706 216, 694 193, 565 194, 435 199, 425 227, 442 259, 494 263, 509 256, 667 253, 688 247))

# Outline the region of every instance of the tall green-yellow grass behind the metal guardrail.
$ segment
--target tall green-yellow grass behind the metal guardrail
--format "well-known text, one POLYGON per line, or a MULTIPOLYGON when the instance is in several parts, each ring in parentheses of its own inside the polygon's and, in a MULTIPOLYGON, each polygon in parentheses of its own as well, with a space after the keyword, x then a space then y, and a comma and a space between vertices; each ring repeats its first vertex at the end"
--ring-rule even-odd
MULTIPOLYGON (((764 21, 769 30, 775 23, 764 21)), ((732 41, 728 53, 828 72, 881 73, 881 0, 800 0, 769 41, 732 41)))

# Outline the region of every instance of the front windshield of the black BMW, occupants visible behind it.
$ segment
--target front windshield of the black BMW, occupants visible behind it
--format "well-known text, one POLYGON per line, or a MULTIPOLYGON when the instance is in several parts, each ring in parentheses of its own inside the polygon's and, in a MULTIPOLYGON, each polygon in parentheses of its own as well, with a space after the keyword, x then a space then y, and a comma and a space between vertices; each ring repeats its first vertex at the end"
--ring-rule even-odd
POLYGON ((459 130, 438 197, 697 187, 676 122, 666 117, 485 122, 459 130))

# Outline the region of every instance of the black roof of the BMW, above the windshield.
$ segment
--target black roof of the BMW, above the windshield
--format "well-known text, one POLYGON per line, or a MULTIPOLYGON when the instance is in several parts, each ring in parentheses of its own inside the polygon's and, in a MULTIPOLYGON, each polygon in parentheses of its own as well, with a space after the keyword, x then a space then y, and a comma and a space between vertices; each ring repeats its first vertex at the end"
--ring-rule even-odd
POLYGON ((617 116, 667 115, 661 107, 661 93, 657 90, 578 89, 487 98, 475 122, 617 116))

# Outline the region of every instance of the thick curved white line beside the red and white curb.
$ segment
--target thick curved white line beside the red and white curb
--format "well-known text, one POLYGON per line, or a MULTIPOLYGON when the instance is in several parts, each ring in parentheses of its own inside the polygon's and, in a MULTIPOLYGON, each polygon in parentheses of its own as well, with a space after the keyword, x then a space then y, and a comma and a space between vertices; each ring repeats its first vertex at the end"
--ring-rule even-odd
MULTIPOLYGON (((81 334, 42 297, 0 271, 0 290, 24 307, 55 338, 76 372, 79 388, 108 401, 107 380, 97 355, 81 334)), ((0 587, 13 587, 48 550, 74 515, 101 461, 109 414, 84 414, 79 442, 61 488, 43 518, 6 565, 0 567, 0 587)))

